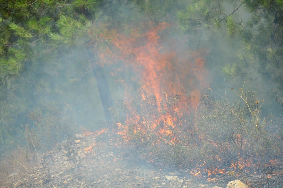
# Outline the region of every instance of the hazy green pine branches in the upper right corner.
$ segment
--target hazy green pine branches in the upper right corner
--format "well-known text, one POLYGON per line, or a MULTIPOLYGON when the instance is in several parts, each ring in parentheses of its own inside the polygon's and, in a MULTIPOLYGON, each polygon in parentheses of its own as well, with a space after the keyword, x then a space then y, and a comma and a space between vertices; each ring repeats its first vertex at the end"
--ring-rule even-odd
POLYGON ((273 80, 282 87, 282 1, 193 1, 186 9, 177 12, 177 17, 179 28, 186 32, 207 28, 224 29, 225 25, 222 22, 226 22, 225 29, 228 35, 241 37, 243 41, 239 46, 242 49, 239 55, 241 61, 239 67, 242 71, 240 75, 253 67, 252 71, 273 80), (224 3, 227 5, 224 6, 224 3), (225 10, 231 5, 235 5, 236 8, 230 12, 225 10), (245 16, 239 13, 243 8, 250 14, 250 19, 245 22, 243 21, 245 16))

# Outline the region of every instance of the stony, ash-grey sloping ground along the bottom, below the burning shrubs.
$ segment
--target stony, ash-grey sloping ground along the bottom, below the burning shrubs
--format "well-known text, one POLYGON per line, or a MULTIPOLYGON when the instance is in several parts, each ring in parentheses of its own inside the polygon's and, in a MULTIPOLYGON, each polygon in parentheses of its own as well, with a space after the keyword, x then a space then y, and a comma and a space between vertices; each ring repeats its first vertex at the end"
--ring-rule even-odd
MULTIPOLYGON (((115 140, 115 139, 114 139, 115 140)), ((193 176, 192 170, 157 169, 149 163, 136 159, 115 144, 113 139, 97 140, 95 135, 81 136, 51 151, 41 165, 33 167, 25 177, 18 172, 11 174, 1 185, 4 187, 162 187, 162 188, 212 188, 226 187, 236 180, 231 175, 193 176), (99 143, 99 144, 98 144, 99 143), (42 165, 43 164, 43 165, 42 165), (21 177, 21 178, 19 178, 21 177), (215 178, 215 179, 213 179, 215 178)), ((283 187, 282 166, 269 168, 270 188, 283 187)), ((267 187, 266 176, 262 173, 246 174, 250 187, 267 187)), ((245 182, 244 176, 239 180, 245 182)))

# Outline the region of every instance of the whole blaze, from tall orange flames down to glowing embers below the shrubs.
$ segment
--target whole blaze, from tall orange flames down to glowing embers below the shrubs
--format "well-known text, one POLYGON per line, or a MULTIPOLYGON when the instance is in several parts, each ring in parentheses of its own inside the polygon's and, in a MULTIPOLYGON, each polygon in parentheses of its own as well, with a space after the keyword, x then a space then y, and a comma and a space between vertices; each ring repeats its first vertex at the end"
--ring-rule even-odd
POLYGON ((219 111, 206 95, 207 100, 201 98, 209 88, 205 53, 192 52, 182 41, 171 39, 168 23, 149 25, 148 31, 132 29, 127 36, 117 31, 101 35, 103 40, 110 41, 111 47, 99 53, 100 63, 115 67, 112 75, 131 75, 119 80, 125 86, 125 100, 120 105, 123 115, 111 122, 114 132, 123 138, 120 145, 138 149, 142 158, 156 165, 194 166, 191 174, 199 178, 259 166, 258 162, 253 163, 254 155, 249 152, 253 144, 249 144, 245 132, 233 133, 233 143, 226 138, 207 137, 213 129, 221 128, 203 121, 213 117, 211 112, 219 111), (212 111, 206 111, 207 108, 212 111), (164 153, 174 153, 174 157, 162 156, 164 153))

